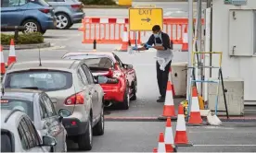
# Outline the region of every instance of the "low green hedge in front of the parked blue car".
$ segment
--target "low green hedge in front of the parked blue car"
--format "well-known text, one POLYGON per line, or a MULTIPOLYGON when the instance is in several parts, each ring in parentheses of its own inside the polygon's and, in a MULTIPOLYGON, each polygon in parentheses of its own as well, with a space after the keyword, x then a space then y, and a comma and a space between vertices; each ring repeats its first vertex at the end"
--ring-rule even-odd
MULTIPOLYGON (((11 39, 14 39, 13 34, 4 34, 1 33, 1 44, 3 45, 9 45, 11 39)), ((19 33, 18 42, 15 42, 16 44, 34 44, 34 43, 43 43, 44 37, 39 32, 34 33, 28 33, 28 34, 22 34, 19 33)))

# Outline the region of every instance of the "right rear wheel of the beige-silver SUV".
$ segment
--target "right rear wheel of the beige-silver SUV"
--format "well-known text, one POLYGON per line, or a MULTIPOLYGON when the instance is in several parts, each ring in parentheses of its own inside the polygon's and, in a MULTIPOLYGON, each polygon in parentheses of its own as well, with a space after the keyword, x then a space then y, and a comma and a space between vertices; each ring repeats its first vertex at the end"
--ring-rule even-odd
POLYGON ((78 147, 82 150, 91 150, 93 147, 93 129, 92 120, 88 121, 88 128, 85 134, 80 135, 78 138, 78 147))

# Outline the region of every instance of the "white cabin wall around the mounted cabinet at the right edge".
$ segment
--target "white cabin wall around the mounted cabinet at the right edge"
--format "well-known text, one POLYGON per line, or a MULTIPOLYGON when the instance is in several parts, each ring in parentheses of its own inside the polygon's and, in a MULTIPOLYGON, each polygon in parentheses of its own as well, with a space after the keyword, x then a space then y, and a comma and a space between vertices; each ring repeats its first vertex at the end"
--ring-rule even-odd
MULTIPOLYGON (((230 56, 229 9, 256 9, 256 0, 248 0, 247 6, 224 5, 224 0, 212 0, 212 51, 223 52, 224 77, 239 77, 244 80, 245 104, 256 103, 256 55, 230 56)), ((252 39, 250 36, 243 37, 243 41, 240 43, 252 39)), ((252 50, 250 47, 246 47, 244 50, 252 52, 247 51, 252 50)), ((218 65, 216 56, 212 58, 212 65, 218 65)), ((212 71, 212 75, 216 76, 216 74, 216 71, 212 71)))

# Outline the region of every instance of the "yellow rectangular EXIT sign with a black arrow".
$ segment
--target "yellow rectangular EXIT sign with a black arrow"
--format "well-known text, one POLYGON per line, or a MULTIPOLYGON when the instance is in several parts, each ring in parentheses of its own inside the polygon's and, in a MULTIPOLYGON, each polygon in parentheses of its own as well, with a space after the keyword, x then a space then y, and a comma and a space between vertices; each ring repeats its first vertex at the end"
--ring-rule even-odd
POLYGON ((129 30, 151 31, 154 25, 162 29, 162 8, 129 8, 129 30))

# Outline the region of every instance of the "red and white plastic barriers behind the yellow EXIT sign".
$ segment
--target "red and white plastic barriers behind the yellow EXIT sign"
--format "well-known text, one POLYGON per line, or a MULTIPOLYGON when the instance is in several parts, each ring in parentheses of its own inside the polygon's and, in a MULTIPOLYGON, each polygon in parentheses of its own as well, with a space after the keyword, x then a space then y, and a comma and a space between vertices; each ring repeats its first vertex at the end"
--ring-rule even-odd
MULTIPOLYGON (((170 36, 173 44, 183 45, 187 22, 187 18, 163 18, 162 31, 170 36)), ((99 44, 122 44, 123 39, 126 39, 123 34, 126 32, 125 28, 128 29, 127 36, 130 44, 140 44, 142 37, 152 33, 151 31, 129 31, 129 18, 85 17, 82 19, 82 27, 79 30, 83 32, 82 43, 96 41, 99 44)))

